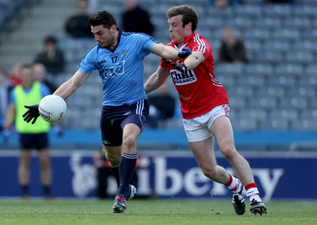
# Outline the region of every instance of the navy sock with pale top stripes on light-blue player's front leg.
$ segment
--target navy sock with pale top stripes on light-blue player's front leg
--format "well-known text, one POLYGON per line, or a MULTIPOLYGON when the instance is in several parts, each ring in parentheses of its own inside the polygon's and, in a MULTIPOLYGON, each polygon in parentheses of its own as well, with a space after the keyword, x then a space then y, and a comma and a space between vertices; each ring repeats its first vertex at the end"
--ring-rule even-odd
POLYGON ((119 173, 120 173, 120 186, 117 192, 117 195, 125 195, 129 190, 129 184, 131 182, 131 178, 137 166, 138 154, 129 155, 126 153, 122 153, 119 173))

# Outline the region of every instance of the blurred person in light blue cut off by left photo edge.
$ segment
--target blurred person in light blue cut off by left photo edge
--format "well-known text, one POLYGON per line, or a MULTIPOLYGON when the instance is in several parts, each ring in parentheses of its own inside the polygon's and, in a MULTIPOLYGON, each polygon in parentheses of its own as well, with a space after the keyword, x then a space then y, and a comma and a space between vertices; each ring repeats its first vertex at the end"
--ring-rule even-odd
POLYGON ((4 68, 0 68, 0 128, 3 126, 5 114, 9 104, 10 84, 8 73, 4 68))

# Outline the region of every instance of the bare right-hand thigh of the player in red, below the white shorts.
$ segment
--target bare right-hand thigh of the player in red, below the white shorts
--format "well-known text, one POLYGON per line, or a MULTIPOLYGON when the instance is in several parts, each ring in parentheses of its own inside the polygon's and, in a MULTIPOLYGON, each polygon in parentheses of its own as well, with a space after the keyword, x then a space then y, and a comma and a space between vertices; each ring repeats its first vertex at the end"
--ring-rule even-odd
POLYGON ((210 132, 215 136, 221 151, 234 148, 234 135, 231 122, 227 116, 218 117, 210 126, 210 132))

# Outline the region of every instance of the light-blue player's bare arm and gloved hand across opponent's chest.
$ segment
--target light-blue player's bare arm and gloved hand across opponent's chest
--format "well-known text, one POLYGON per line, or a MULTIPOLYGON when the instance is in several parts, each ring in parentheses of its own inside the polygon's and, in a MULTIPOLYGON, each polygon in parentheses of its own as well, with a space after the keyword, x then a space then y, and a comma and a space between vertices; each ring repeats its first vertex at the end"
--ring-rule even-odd
POLYGON ((153 45, 152 53, 165 59, 175 60, 180 58, 186 58, 188 55, 192 53, 192 51, 186 47, 184 50, 178 52, 178 50, 171 46, 165 46, 162 43, 158 43, 153 45))

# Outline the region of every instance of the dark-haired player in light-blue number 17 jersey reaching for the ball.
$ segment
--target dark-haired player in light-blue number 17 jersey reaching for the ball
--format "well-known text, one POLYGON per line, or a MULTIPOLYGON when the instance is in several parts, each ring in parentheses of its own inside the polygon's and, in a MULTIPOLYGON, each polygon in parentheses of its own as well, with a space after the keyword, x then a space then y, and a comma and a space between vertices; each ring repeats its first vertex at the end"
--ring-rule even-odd
MULTIPOLYGON (((186 58, 191 51, 184 48, 178 52, 152 36, 122 32, 108 11, 91 16, 89 23, 98 44, 81 60, 73 77, 53 94, 68 98, 98 69, 103 85, 101 141, 119 187, 112 212, 122 213, 136 193, 130 181, 137 163, 137 140, 149 113, 143 87, 144 57, 154 53, 176 60, 186 58)), ((39 117, 38 105, 27 107, 24 120, 34 123, 39 117)))

